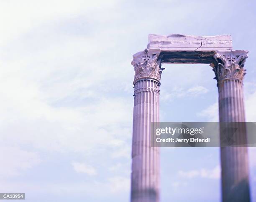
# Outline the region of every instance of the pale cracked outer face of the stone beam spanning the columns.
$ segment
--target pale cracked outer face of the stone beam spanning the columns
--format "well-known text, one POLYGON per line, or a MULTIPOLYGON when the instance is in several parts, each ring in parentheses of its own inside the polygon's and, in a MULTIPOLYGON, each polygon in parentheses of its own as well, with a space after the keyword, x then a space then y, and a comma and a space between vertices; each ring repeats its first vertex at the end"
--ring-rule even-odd
POLYGON ((232 50, 231 35, 192 36, 192 35, 148 35, 148 49, 161 51, 194 51, 194 50, 232 50))

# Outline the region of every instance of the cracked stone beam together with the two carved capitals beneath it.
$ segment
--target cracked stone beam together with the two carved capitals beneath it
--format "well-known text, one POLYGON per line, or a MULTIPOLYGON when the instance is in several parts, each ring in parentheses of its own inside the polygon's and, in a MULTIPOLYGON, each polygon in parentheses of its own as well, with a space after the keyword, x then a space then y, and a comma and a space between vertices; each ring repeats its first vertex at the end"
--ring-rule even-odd
MULTIPOLYGON (((243 79, 245 70, 240 59, 247 57, 246 50, 232 50, 231 35, 192 36, 192 35, 152 35, 148 36, 148 46, 144 51, 133 55, 132 65, 135 70, 134 82, 151 78, 160 82, 162 63, 211 64, 217 81, 223 78, 243 79), (222 57, 221 54, 224 54, 222 57), (233 58, 231 55, 236 55, 233 58), (226 58, 225 68, 216 58, 226 58), (233 58, 232 61, 229 58, 233 58), (231 62, 230 62, 231 61, 231 62), (236 64, 237 63, 237 64, 236 64), (217 67, 218 66, 218 67, 217 67), (239 66, 239 72, 238 72, 239 66), (224 74, 225 73, 225 74, 224 74), (239 73, 239 74, 238 74, 239 73)), ((222 62, 223 62, 222 61, 222 62)))

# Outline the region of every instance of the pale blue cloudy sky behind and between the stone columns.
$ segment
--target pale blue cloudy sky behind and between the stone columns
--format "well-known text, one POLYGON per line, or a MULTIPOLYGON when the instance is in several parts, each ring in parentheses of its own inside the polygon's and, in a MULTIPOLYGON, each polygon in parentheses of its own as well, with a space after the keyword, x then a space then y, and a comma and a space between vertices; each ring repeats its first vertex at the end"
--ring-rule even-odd
MULTIPOLYGON (((128 202, 132 55, 148 34, 231 34, 249 50, 247 121, 256 122, 253 0, 0 0, 0 192, 28 202, 128 202)), ((209 65, 163 65, 161 121, 218 121, 209 65)), ((256 202, 256 150, 250 182, 256 202)), ((220 201, 218 148, 161 148, 161 200, 220 201)))

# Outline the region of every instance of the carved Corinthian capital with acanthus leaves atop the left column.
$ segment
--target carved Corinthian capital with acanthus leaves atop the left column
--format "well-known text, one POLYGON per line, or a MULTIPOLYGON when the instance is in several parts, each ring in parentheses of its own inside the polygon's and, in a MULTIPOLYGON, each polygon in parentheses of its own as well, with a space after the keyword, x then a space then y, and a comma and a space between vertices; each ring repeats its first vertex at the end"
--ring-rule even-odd
POLYGON ((144 78, 151 78, 160 82, 161 73, 164 68, 161 68, 161 60, 159 60, 159 51, 154 50, 148 52, 147 49, 133 55, 131 64, 134 67, 135 75, 134 82, 144 78))

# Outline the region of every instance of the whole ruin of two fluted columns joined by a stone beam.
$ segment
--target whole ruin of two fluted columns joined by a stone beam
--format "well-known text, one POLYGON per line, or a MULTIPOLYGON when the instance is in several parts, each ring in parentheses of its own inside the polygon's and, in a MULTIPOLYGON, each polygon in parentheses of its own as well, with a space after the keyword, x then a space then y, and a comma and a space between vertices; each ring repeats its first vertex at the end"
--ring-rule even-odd
MULTIPOLYGON (((149 35, 148 39, 147 48, 134 54, 131 63, 135 71, 131 202, 160 198, 159 148, 152 147, 150 140, 151 123, 159 123, 162 63, 210 64, 218 82, 220 122, 245 122, 243 77, 248 51, 233 50, 230 35, 149 35)), ((220 140, 226 133, 220 130, 220 140)), ((236 140, 247 141, 246 127, 238 136, 236 140)), ((220 157, 222 202, 250 202, 247 147, 220 147, 220 157)))

